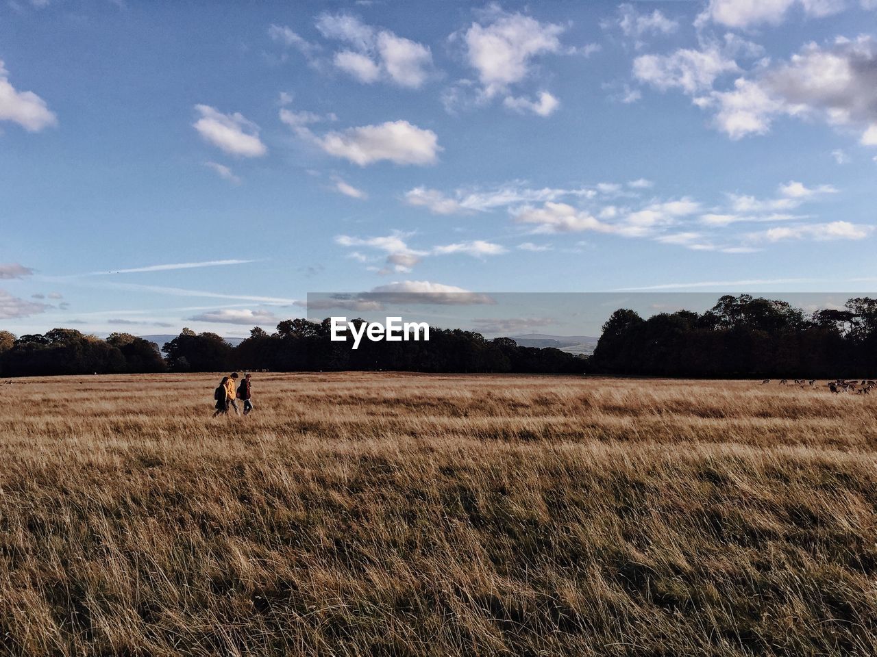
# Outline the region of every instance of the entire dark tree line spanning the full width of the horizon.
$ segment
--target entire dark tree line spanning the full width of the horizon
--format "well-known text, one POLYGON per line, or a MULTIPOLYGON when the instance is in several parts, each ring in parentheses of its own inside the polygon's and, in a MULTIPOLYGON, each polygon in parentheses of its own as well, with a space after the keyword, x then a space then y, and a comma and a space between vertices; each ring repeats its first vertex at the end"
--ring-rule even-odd
MULTIPOLYGON (((353 320, 361 325, 362 319, 353 320)), ((237 346, 215 333, 182 329, 162 348, 113 333, 75 329, 16 337, 0 331, 0 376, 163 371, 533 372, 702 378, 873 378, 877 374, 877 300, 805 314, 788 302, 726 295, 704 313, 680 310, 647 319, 620 308, 602 327, 592 357, 488 340, 460 329, 430 329, 430 340, 362 341, 357 350, 330 340, 330 321, 281 321, 255 328, 237 346), (162 354, 163 352, 163 354, 162 354)))

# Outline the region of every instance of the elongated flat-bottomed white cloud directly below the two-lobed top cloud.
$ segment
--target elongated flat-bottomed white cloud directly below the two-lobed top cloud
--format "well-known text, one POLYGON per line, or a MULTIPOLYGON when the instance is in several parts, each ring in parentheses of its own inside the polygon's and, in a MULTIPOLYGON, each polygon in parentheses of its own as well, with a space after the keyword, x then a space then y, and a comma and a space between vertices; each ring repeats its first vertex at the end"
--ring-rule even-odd
POLYGON ((407 121, 363 125, 343 132, 329 132, 317 144, 337 158, 360 166, 389 160, 400 165, 428 165, 441 151, 436 133, 407 121))

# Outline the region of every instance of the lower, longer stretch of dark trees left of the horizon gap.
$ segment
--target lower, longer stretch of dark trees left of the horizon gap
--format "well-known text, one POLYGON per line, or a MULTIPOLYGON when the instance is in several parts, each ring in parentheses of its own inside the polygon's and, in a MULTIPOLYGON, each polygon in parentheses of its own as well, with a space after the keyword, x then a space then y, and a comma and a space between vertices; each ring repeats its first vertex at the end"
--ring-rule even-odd
MULTIPOLYGON (((367 323, 355 319, 360 326, 367 323)), ((353 339, 332 342, 330 321, 284 320, 275 333, 255 328, 237 346, 215 333, 182 329, 161 349, 126 333, 102 340, 75 329, 52 329, 16 338, 0 331, 0 376, 116 374, 137 372, 266 371, 424 371, 541 372, 584 371, 584 360, 564 351, 519 347, 514 340, 488 340, 480 333, 430 328, 429 341, 370 342, 353 350, 353 339), (162 356, 163 352, 163 356, 162 356)))

